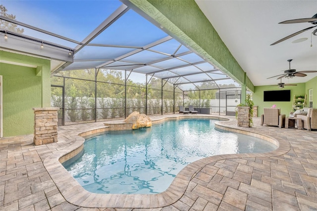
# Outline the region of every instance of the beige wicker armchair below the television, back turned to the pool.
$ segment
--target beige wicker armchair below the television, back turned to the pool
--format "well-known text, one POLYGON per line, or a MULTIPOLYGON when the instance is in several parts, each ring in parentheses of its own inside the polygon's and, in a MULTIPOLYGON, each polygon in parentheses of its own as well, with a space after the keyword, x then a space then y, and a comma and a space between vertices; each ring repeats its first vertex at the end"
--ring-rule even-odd
POLYGON ((261 126, 264 124, 282 128, 285 124, 285 114, 280 114, 279 108, 264 107, 264 112, 261 115, 261 126))

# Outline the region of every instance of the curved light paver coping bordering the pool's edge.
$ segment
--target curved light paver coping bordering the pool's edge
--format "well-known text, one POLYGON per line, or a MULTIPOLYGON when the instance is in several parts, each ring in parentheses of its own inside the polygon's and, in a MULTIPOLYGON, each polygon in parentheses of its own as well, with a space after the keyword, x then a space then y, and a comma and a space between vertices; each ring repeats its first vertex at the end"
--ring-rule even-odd
MULTIPOLYGON (((190 181, 194 176, 206 165, 228 158, 254 158, 254 157, 272 157, 280 156, 290 150, 290 145, 283 139, 273 138, 269 135, 257 133, 252 128, 237 128, 226 124, 232 121, 230 118, 219 116, 206 115, 179 115, 179 116, 162 116, 153 120, 153 124, 160 123, 166 120, 188 119, 188 118, 210 118, 225 121, 215 123, 215 127, 231 132, 242 133, 255 136, 266 141, 269 141, 278 148, 274 151, 262 154, 229 154, 217 155, 208 158, 202 158, 185 166, 174 178, 171 185, 162 193, 159 194, 95 194, 86 191, 62 166, 63 159, 66 160, 78 154, 83 147, 85 139, 83 136, 88 136, 96 133, 103 133, 108 129, 107 126, 95 127, 89 131, 84 131, 78 134, 69 134, 69 140, 72 145, 55 152, 53 155, 46 158, 43 162, 45 168, 49 172, 56 187, 65 198, 65 200, 73 205, 85 208, 160 208, 169 206, 177 202, 186 192, 190 181)), ((107 123, 108 124, 108 123, 107 123)), ((113 124, 118 124, 114 122, 113 124)))

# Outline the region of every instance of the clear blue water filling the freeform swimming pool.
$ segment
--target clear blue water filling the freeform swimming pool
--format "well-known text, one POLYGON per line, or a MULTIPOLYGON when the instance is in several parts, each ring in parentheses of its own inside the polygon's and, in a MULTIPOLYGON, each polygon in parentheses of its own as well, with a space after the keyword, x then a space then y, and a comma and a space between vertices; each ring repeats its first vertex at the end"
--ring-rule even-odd
POLYGON ((93 193, 153 194, 166 190, 195 160, 277 148, 262 139, 217 130, 215 121, 165 121, 151 128, 108 132, 86 139, 82 156, 64 166, 93 193))

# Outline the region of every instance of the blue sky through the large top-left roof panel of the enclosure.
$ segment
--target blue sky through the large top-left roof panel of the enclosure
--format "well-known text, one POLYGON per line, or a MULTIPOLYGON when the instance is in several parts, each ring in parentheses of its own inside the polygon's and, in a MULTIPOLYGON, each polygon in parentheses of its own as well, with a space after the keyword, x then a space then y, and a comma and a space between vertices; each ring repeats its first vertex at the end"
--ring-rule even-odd
POLYGON ((122 3, 118 0, 1 0, 16 20, 82 41, 122 3))

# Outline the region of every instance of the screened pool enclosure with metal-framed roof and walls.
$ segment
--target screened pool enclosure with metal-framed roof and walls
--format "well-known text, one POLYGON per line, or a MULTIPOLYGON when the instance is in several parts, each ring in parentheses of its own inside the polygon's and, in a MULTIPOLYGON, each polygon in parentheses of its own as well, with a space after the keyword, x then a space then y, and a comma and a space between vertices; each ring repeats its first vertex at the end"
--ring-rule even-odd
POLYGON ((240 103, 240 84, 131 2, 75 2, 3 1, 15 17, 0 16, 1 48, 51 58, 59 124, 240 103))

